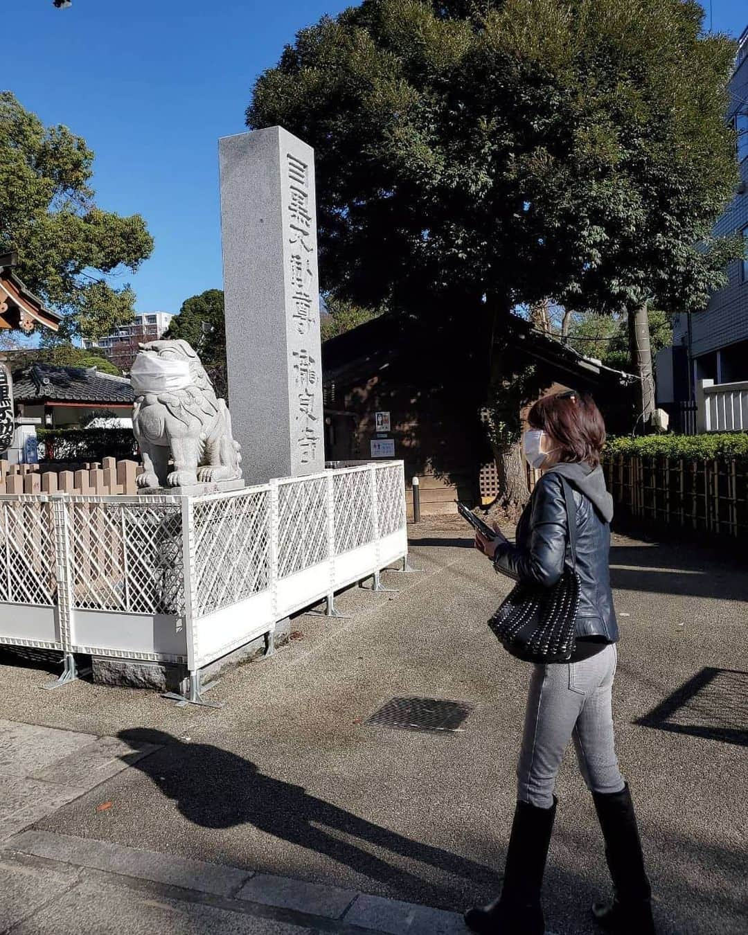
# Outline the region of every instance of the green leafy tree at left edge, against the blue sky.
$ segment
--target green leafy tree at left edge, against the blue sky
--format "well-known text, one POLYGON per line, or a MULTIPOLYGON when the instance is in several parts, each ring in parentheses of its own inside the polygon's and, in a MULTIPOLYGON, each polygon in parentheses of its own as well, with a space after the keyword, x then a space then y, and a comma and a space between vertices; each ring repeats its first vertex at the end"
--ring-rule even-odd
POLYGON ((0 92, 0 253, 18 252, 22 280, 65 314, 62 339, 128 321, 135 295, 108 276, 135 272, 153 248, 140 215, 96 205, 93 163, 82 137, 0 92))

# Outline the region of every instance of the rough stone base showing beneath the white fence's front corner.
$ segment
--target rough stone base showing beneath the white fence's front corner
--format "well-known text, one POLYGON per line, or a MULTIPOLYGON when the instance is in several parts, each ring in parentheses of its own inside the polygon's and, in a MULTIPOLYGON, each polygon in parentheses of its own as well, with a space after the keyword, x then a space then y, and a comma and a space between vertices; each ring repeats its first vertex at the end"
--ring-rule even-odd
MULTIPOLYGON (((291 620, 280 620, 275 628, 275 648, 291 639, 291 620)), ((266 654, 265 637, 240 646, 200 670, 203 684, 218 678, 225 671, 253 662, 266 654)), ((189 689, 187 667, 173 662, 150 662, 143 659, 120 659, 94 655, 91 660, 94 683, 125 688, 148 688, 156 692, 184 694, 189 689)))

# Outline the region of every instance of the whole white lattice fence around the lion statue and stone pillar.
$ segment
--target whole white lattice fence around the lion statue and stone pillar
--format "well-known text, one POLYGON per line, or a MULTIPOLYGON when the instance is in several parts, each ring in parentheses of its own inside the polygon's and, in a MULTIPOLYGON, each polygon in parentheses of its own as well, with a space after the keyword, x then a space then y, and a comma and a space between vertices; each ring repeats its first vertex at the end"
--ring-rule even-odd
POLYGON ((402 462, 208 496, 0 496, 0 643, 199 669, 408 552, 402 462))

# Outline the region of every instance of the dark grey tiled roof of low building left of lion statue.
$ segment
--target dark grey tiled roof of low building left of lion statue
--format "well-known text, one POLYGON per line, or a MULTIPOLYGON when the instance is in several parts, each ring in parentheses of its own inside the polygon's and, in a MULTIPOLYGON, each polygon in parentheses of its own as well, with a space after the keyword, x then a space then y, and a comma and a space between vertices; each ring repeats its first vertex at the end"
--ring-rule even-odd
POLYGON ((32 364, 13 371, 16 402, 132 403, 130 381, 100 373, 95 367, 52 367, 32 364))

